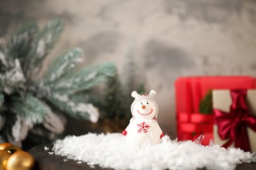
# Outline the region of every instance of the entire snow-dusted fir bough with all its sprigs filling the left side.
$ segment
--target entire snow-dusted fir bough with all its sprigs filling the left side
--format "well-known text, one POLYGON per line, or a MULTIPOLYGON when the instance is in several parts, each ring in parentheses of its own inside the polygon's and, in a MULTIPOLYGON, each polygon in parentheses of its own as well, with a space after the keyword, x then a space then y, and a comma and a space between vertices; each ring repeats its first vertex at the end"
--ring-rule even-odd
POLYGON ((87 92, 116 74, 113 63, 75 70, 83 60, 83 50, 74 48, 57 56, 45 74, 37 76, 63 27, 60 19, 41 30, 33 22, 20 25, 9 41, 0 43, 1 142, 20 146, 28 138, 54 140, 64 132, 64 114, 98 120, 100 114, 87 92))

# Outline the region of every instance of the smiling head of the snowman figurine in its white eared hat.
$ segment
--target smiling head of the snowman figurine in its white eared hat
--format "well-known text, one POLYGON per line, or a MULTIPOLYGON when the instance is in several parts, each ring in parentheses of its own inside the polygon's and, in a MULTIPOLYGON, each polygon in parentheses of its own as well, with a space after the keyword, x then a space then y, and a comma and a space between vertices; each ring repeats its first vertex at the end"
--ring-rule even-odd
POLYGON ((148 95, 132 92, 131 96, 135 97, 135 101, 131 104, 131 114, 135 117, 152 119, 158 114, 158 105, 154 100, 156 92, 151 90, 148 95))

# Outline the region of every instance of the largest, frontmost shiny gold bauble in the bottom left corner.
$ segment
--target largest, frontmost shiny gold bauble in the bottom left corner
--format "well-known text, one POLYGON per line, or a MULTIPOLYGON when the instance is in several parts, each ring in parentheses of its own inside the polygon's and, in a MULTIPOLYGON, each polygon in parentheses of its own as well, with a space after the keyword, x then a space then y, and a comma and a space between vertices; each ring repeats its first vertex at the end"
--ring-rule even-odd
POLYGON ((6 170, 31 170, 35 165, 33 157, 24 151, 12 154, 6 163, 6 170))

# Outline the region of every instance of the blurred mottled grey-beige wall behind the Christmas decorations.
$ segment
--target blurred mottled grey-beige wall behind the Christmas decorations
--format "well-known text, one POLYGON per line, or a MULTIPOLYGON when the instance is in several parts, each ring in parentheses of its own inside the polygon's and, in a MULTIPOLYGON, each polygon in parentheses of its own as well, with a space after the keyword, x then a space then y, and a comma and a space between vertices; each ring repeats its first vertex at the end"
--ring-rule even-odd
POLYGON ((176 78, 256 75, 253 0, 0 0, 0 37, 8 39, 22 22, 44 25, 56 17, 66 26, 45 65, 79 46, 87 64, 113 61, 124 78, 132 55, 138 78, 157 92, 158 122, 171 137, 176 78))

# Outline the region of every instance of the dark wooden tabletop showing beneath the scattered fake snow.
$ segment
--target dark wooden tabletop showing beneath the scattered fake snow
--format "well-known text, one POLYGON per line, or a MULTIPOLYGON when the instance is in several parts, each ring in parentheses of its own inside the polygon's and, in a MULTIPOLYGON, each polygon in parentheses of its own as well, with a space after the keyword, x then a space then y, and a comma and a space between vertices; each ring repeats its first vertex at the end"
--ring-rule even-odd
MULTIPOLYGON (((98 165, 95 165, 95 168, 91 168, 87 163, 77 163, 74 160, 67 160, 63 156, 56 156, 54 154, 49 154, 53 148, 53 144, 42 144, 39 146, 35 146, 31 148, 28 152, 32 154, 33 158, 35 158, 35 169, 39 170, 64 170, 64 169, 72 169, 72 170, 81 170, 81 169, 102 169, 98 165), (45 146, 49 148, 49 150, 45 150, 45 146)), ((110 169, 110 168, 109 168, 110 169)), ((255 170, 256 163, 242 163, 236 167, 236 170, 255 170)))

